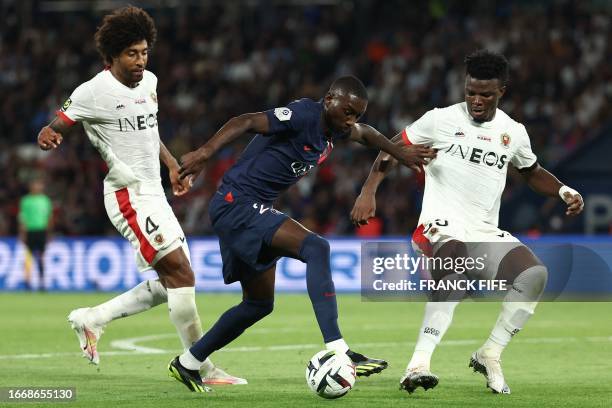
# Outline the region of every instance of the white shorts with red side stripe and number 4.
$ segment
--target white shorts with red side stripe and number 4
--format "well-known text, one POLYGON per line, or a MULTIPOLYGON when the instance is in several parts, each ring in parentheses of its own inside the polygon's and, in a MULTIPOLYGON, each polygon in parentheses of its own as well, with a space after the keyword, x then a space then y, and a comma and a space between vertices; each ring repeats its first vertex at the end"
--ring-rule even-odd
POLYGON ((117 231, 136 251, 140 272, 152 269, 157 261, 179 247, 191 262, 185 234, 161 186, 125 187, 106 194, 104 207, 117 231))

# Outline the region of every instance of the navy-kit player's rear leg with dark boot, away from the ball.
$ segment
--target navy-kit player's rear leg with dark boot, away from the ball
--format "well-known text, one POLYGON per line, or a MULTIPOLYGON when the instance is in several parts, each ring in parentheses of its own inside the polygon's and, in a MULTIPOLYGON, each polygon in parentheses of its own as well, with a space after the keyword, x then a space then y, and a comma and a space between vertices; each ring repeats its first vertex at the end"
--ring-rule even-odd
POLYGON ((200 340, 170 362, 170 375, 191 391, 206 391, 201 387, 198 367, 214 351, 231 343, 247 328, 272 313, 275 272, 273 266, 248 281, 241 281, 242 302, 223 313, 200 340))

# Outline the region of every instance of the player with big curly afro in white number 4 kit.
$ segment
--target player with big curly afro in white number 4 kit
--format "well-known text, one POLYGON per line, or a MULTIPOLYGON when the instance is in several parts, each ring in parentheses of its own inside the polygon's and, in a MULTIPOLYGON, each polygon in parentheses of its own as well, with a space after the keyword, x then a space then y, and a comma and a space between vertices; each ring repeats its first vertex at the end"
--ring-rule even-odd
MULTIPOLYGON (((135 249, 138 269, 153 268, 159 276, 108 302, 70 313, 81 350, 94 364, 100 360, 97 342, 107 323, 164 302, 185 349, 202 337, 189 248, 160 178, 161 159, 170 171, 175 195, 191 186, 190 180, 179 180, 180 166, 159 138, 157 77, 145 70, 156 35, 153 19, 142 9, 125 7, 107 15, 95 34, 107 68, 78 86, 38 135, 41 149, 54 149, 72 125, 83 123, 108 165, 108 217, 135 249)), ((210 360, 203 363, 201 373, 204 384, 246 383, 210 360)))

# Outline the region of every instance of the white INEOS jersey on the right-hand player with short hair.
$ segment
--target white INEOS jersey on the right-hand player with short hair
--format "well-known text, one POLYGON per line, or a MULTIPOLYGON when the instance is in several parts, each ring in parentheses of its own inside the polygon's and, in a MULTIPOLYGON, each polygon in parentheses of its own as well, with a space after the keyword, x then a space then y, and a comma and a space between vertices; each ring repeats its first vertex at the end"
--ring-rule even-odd
POLYGON ((419 224, 452 219, 497 227, 508 163, 526 169, 537 158, 525 126, 497 109, 490 122, 472 120, 465 102, 433 109, 407 126, 404 139, 438 150, 425 168, 419 224))

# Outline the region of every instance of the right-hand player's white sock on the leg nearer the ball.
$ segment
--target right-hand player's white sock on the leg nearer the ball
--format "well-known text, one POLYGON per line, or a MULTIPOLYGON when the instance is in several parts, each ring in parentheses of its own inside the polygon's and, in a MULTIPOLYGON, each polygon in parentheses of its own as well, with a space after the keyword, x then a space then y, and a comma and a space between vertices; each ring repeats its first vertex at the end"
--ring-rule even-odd
POLYGON ((459 302, 427 302, 425 304, 423 324, 406 371, 417 368, 429 370, 431 355, 448 330, 458 304, 459 302))

